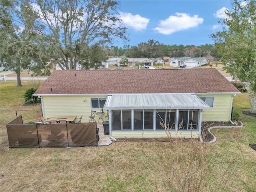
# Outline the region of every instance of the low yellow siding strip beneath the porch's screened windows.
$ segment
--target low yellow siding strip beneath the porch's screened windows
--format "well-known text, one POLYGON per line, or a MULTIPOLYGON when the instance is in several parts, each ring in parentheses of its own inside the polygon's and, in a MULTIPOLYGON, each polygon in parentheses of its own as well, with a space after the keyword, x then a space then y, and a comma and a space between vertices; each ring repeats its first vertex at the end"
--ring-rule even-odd
MULTIPOLYGON (((171 131, 173 138, 199 138, 199 131, 171 131)), ((154 138, 168 137, 164 131, 112 131, 111 136, 114 138, 154 138)))

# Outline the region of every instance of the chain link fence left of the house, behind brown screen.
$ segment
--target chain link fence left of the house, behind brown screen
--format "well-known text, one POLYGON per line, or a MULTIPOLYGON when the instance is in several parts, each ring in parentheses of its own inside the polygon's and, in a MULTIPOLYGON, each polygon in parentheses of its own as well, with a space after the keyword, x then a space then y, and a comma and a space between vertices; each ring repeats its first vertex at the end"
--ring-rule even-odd
POLYGON ((22 120, 24 124, 31 121, 41 121, 42 109, 34 110, 0 110, 0 124, 5 125, 8 122, 14 120, 18 116, 22 115, 22 120))

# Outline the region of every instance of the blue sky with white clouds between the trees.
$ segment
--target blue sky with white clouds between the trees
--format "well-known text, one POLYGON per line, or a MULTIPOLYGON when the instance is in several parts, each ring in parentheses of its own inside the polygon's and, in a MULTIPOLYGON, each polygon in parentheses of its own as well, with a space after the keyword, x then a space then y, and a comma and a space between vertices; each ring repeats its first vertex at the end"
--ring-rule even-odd
POLYGON ((230 0, 120 0, 119 13, 129 42, 114 46, 137 46, 155 40, 165 45, 214 44, 210 34, 221 30, 219 20, 230 0))

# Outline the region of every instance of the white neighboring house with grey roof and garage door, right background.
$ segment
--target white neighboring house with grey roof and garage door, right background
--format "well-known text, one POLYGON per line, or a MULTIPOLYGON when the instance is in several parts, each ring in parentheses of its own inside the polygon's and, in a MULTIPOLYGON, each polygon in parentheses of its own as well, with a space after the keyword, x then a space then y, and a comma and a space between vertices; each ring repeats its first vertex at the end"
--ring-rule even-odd
POLYGON ((207 60, 204 57, 176 57, 170 60, 170 66, 180 66, 185 64, 188 67, 200 67, 206 63, 207 60))

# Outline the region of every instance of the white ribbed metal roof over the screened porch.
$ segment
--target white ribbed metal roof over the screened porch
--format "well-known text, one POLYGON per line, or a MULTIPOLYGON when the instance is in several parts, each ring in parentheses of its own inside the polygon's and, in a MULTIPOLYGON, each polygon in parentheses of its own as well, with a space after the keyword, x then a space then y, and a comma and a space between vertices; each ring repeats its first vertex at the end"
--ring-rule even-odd
POLYGON ((209 109, 195 94, 113 94, 105 109, 209 109))

